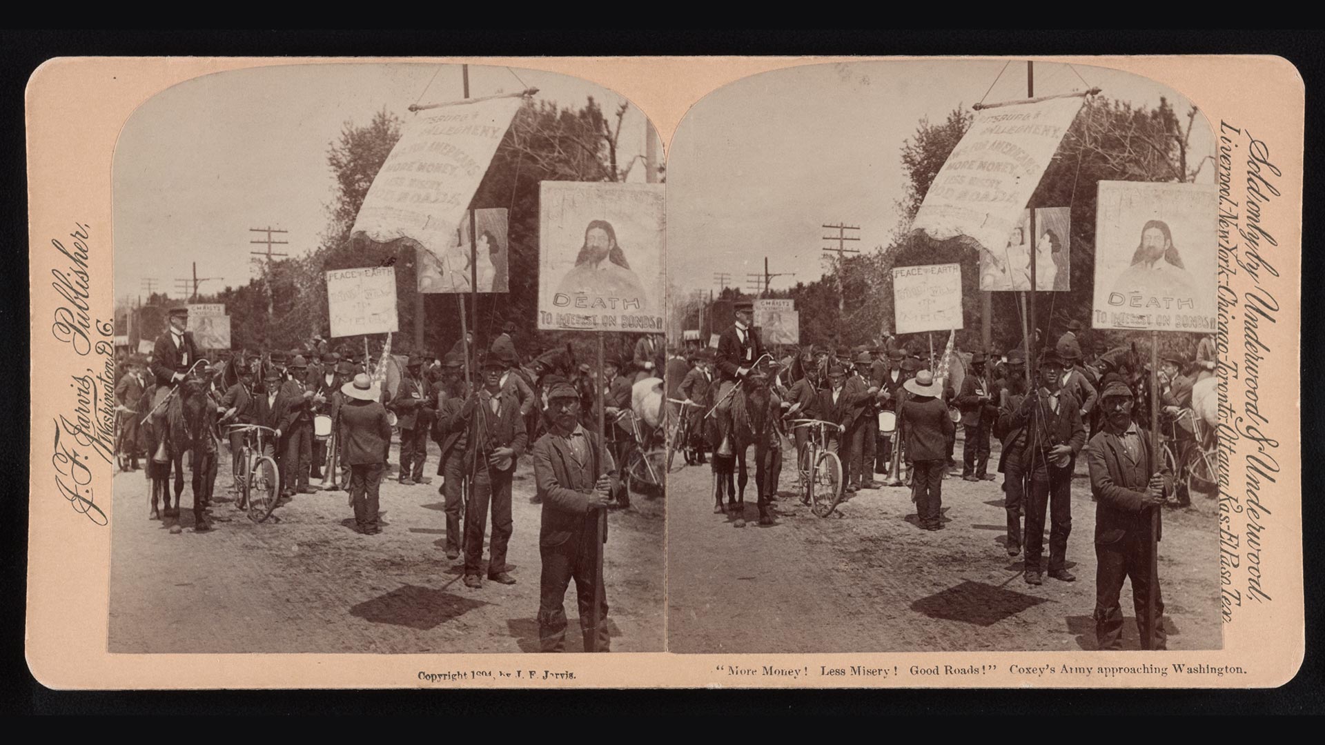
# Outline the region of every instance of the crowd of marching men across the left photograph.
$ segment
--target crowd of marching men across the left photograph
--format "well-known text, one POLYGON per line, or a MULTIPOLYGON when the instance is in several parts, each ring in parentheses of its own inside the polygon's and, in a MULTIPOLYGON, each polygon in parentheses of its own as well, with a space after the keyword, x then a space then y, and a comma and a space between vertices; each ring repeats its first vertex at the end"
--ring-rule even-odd
MULTIPOLYGON (((594 367, 574 365, 568 350, 521 357, 514 327, 507 323, 481 355, 473 382, 466 380, 469 347, 457 342, 440 358, 408 355, 388 391, 380 350, 372 357, 351 346, 331 349, 326 339, 314 337, 288 351, 220 351, 208 361, 187 331, 187 305, 171 309, 170 326, 152 354, 127 355, 115 386, 121 469, 134 471, 142 463, 148 483, 163 490, 174 477, 176 506, 167 506, 164 516, 158 513, 154 490, 154 518, 179 517, 186 459, 171 453, 184 451, 193 476, 193 530, 212 530, 217 456, 229 451, 229 488, 242 493, 240 453, 246 441, 256 443, 252 428, 242 426, 256 424, 269 435, 262 451, 278 464, 282 500, 319 490, 348 492, 355 530, 378 534, 380 484, 391 471, 390 447, 399 432, 396 479, 401 485, 431 484, 425 475, 428 441, 439 448, 445 553, 448 559, 462 557, 465 586, 481 589, 485 574, 488 581, 514 585, 506 565, 513 533, 511 484, 517 461, 531 455, 537 492, 530 501, 542 504, 542 648, 564 647, 562 598, 574 579, 586 648, 607 650, 606 626, 588 626, 595 597, 599 618, 607 615, 604 594, 594 585, 595 558, 602 550, 594 536, 599 510, 629 501, 616 465, 628 443, 623 427, 610 428, 606 447, 596 432, 594 367), (223 443, 228 448, 219 447, 223 443)), ((466 341, 473 343, 473 335, 466 341)), ((640 337, 632 349, 633 354, 604 365, 603 400, 610 418, 631 407, 627 375, 641 379, 662 370, 659 338, 640 337)), ((171 532, 182 532, 178 520, 171 532)))

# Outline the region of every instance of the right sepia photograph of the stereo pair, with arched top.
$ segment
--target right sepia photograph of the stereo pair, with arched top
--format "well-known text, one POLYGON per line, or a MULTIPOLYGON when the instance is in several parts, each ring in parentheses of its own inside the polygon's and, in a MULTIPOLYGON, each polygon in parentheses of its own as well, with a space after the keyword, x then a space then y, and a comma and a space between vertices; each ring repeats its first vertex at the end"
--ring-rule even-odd
POLYGON ((1085 65, 806 65, 696 103, 668 650, 1222 648, 1214 154, 1181 91, 1085 65))

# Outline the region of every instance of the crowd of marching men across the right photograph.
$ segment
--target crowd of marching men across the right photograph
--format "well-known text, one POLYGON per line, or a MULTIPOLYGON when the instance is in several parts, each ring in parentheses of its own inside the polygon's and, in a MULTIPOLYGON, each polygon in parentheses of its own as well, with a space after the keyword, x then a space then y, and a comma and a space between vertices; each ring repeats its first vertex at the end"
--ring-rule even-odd
MULTIPOLYGON (((943 529, 942 481, 958 475, 957 427, 963 431, 959 475, 966 481, 998 479, 990 472, 990 443, 996 437, 1002 448, 994 469, 1003 475, 1007 554, 1024 551, 1024 582, 1041 585, 1045 573, 1056 581, 1076 581, 1067 567, 1071 480, 1084 451, 1097 502, 1100 647, 1121 644, 1118 598, 1124 579, 1130 578, 1142 636, 1151 648, 1163 648, 1162 624, 1149 628, 1150 616, 1143 612, 1151 591, 1155 618, 1163 612, 1159 589, 1151 587, 1149 578, 1151 533, 1158 540, 1159 524, 1154 518, 1151 528, 1151 513, 1159 505, 1181 505, 1190 497, 1178 493, 1174 475, 1151 449, 1149 365, 1136 349, 1096 345, 1096 354, 1086 361, 1081 353, 1084 327, 1071 322, 1056 343, 1035 350, 1030 365, 1020 347, 1007 354, 962 354, 965 376, 954 390, 941 378, 942 350, 930 357, 918 346, 908 349, 888 337, 874 347, 774 351, 763 347, 751 321, 751 304, 738 302, 735 323, 719 335, 717 349, 692 347, 668 362, 669 398, 693 403, 700 412, 689 420, 690 463, 704 463, 706 451, 729 455, 722 448, 731 427, 731 392, 759 369, 771 374, 787 419, 837 424, 829 428, 827 445, 841 460, 848 497, 882 487, 876 473, 889 475, 888 485, 910 488, 925 530, 943 529), (704 414, 710 410, 717 416, 717 432, 704 426, 704 414), (892 428, 881 431, 881 420, 892 428)), ((1214 367, 1211 337, 1198 342, 1192 357, 1163 355, 1157 376, 1163 411, 1171 416, 1190 408, 1195 380, 1212 375, 1214 367)), ((804 469, 806 430, 784 431, 795 432, 794 447, 804 469)), ((1181 427, 1174 431, 1183 436, 1181 427)), ((716 512, 721 512, 721 502, 716 512)))

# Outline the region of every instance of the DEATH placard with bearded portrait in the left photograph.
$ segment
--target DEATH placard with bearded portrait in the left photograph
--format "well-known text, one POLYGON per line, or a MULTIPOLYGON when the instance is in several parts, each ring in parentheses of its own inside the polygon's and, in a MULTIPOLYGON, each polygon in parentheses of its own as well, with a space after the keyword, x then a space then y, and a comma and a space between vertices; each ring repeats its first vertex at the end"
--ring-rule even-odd
POLYGON ((662 333, 664 188, 541 184, 541 330, 662 333))

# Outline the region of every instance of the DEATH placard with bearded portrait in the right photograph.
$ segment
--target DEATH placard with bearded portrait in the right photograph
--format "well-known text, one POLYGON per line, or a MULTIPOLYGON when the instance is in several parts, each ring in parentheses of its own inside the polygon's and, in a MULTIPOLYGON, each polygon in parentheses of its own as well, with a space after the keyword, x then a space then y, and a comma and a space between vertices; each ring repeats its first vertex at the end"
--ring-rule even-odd
POLYGON ((1214 186, 1100 182, 1096 329, 1214 331, 1214 186))

